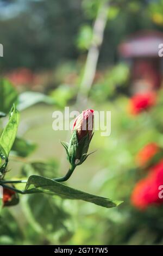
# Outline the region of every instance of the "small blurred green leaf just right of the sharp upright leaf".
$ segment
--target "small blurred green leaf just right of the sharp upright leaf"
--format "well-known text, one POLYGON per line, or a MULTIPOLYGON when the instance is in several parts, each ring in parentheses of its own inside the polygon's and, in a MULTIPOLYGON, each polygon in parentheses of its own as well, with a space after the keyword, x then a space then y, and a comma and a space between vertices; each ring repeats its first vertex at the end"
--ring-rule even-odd
POLYGON ((26 139, 16 137, 12 146, 12 153, 17 156, 27 157, 36 149, 36 144, 26 139))

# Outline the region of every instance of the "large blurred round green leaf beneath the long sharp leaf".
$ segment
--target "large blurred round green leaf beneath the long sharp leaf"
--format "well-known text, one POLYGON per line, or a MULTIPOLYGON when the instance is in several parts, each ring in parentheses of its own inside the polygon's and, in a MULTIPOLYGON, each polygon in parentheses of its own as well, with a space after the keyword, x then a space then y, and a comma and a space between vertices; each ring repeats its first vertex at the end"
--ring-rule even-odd
POLYGON ((22 197, 21 203, 27 221, 37 233, 46 235, 51 241, 54 236, 66 241, 73 235, 72 201, 65 204, 61 198, 49 197, 47 194, 30 194, 22 197))

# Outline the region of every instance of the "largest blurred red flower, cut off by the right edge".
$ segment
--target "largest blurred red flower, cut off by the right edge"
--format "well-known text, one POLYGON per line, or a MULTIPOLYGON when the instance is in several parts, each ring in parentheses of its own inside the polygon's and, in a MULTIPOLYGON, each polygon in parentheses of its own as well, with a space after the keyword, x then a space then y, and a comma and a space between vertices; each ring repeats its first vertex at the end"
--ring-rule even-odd
POLYGON ((146 209, 149 205, 163 203, 163 198, 159 198, 159 186, 161 185, 163 185, 163 160, 151 169, 145 179, 137 182, 131 194, 131 203, 138 209, 146 209))

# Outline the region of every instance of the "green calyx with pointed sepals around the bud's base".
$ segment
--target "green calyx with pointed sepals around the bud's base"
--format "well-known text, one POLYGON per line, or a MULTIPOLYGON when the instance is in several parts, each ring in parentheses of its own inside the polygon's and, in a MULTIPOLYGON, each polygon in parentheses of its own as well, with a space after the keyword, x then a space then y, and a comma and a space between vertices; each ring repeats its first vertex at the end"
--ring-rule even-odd
POLYGON ((87 133, 87 135, 78 142, 77 132, 74 130, 69 144, 67 142, 61 142, 66 149, 67 160, 70 162, 71 166, 79 166, 90 155, 87 154, 90 141, 89 133, 87 133))

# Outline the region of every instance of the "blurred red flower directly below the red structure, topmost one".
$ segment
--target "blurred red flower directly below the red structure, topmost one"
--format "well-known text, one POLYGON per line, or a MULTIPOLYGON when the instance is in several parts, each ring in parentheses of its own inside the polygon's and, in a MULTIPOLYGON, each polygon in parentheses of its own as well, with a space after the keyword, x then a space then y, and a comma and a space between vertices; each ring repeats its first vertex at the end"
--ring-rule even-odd
POLYGON ((153 92, 136 94, 130 99, 129 111, 131 114, 136 115, 152 107, 153 105, 155 105, 155 103, 156 95, 153 92))

